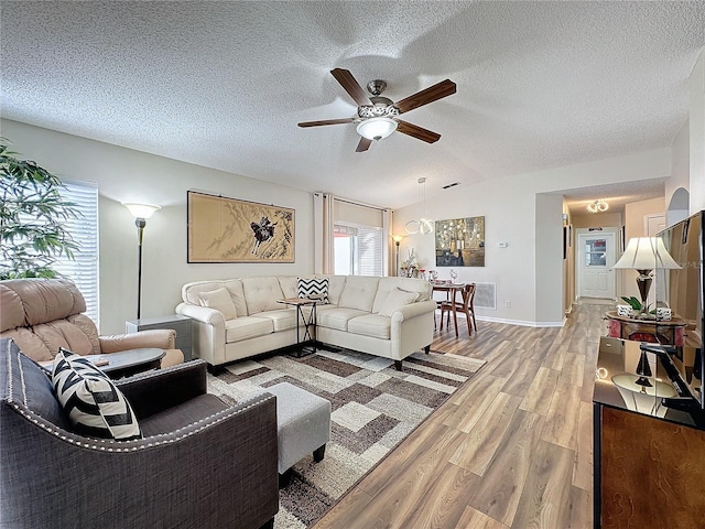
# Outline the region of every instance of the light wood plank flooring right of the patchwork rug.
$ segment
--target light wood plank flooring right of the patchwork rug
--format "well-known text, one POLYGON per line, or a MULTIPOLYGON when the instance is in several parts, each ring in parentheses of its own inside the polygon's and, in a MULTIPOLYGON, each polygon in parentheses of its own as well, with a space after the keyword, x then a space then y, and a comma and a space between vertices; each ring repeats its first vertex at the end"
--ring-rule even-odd
POLYGON ((477 322, 432 349, 482 358, 480 371, 314 526, 593 527, 593 378, 605 304, 560 328, 477 322))

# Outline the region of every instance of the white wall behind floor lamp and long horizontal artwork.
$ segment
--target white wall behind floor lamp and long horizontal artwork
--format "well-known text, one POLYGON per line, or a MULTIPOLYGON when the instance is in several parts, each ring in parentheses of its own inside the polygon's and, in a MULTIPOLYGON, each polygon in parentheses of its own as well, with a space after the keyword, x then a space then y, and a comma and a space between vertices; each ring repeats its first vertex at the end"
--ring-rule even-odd
POLYGON ((142 317, 173 314, 181 287, 188 281, 313 272, 311 193, 15 121, 2 120, 0 126, 21 158, 36 161, 62 180, 98 183, 104 334, 122 333, 124 322, 137 317, 137 227, 121 202, 162 206, 144 229, 142 317), (188 264, 188 190, 294 208, 295 262, 188 264))

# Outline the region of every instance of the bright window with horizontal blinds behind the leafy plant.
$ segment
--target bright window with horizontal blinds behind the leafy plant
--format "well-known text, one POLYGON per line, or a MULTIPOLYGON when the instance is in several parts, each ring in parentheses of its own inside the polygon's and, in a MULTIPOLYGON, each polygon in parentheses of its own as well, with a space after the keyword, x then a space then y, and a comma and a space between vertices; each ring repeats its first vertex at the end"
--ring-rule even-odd
POLYGON ((89 183, 64 182, 64 185, 62 197, 76 204, 83 213, 82 217, 66 222, 79 248, 74 260, 61 256, 52 268, 76 283, 86 300, 86 315, 98 325, 98 188, 89 183))

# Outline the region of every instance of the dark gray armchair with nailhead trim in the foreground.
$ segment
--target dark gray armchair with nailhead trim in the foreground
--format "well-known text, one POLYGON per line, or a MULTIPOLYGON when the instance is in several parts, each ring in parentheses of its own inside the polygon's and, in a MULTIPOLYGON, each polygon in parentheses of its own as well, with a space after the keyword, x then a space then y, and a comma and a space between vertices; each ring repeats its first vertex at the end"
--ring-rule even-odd
POLYGON ((46 373, 0 339, 0 527, 272 527, 275 398, 230 407, 206 393, 205 367, 118 381, 144 439, 89 439, 72 433, 46 373))

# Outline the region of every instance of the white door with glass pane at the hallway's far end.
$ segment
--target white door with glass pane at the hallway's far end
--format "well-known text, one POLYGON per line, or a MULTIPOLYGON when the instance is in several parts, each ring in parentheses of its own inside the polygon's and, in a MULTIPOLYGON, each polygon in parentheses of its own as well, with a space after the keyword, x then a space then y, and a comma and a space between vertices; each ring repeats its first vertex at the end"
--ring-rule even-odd
POLYGON ((578 234, 581 298, 615 298, 615 234, 578 234))

